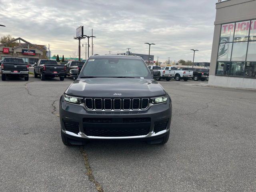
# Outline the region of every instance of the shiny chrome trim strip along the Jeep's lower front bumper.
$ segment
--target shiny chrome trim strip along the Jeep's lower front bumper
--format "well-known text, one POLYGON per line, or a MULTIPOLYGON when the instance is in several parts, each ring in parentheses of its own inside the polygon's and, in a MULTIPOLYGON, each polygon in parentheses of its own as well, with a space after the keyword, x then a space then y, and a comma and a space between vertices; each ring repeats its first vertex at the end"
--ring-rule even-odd
POLYGON ((157 133, 152 131, 152 132, 148 133, 147 135, 128 136, 128 137, 98 137, 98 136, 87 136, 82 132, 79 132, 78 134, 75 134, 75 133, 69 132, 69 131, 65 131, 65 130, 62 130, 62 132, 66 133, 70 136, 74 136, 74 137, 78 137, 78 138, 85 138, 85 139, 138 139, 138 138, 149 138, 149 137, 158 136, 158 135, 168 132, 169 130, 170 130, 170 128, 167 130, 157 132, 157 133))

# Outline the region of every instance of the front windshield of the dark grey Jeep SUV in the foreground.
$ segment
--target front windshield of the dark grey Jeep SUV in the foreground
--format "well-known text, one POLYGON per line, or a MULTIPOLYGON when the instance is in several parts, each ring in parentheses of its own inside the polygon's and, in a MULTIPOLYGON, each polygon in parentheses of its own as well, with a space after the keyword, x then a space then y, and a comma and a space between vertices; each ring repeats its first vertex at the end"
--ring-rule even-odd
POLYGON ((80 77, 130 77, 152 79, 148 68, 142 60, 135 59, 89 59, 80 77))

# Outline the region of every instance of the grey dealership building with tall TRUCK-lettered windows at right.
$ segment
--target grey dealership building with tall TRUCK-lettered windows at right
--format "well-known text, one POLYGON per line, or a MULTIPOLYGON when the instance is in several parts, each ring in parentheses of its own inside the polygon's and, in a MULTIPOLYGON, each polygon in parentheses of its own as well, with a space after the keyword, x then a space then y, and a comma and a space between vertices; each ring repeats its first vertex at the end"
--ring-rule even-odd
POLYGON ((256 0, 216 4, 209 85, 256 89, 256 0))

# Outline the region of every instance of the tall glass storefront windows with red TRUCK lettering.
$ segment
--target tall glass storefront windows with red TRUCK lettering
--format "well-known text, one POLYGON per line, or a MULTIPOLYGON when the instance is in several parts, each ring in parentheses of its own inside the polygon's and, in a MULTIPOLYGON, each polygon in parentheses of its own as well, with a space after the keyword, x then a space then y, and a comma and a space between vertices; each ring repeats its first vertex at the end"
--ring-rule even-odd
POLYGON ((256 78, 256 20, 222 24, 216 75, 256 78))

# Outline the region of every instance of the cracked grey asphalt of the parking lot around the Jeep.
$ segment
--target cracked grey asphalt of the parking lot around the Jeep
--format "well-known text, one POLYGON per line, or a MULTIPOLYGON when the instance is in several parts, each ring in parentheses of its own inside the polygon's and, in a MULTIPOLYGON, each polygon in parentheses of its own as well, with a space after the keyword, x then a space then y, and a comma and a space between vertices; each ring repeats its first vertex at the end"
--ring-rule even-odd
MULTIPOLYGON (((81 148, 60 138, 58 100, 70 83, 0 81, 0 191, 97 191, 81 148)), ((173 105, 164 146, 101 140, 82 148, 104 192, 256 191, 256 92, 202 83, 160 81, 173 105)))

